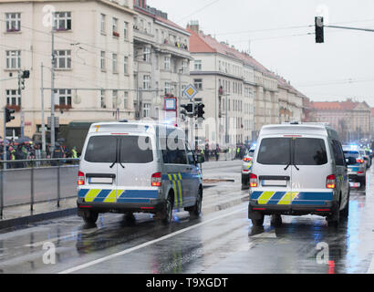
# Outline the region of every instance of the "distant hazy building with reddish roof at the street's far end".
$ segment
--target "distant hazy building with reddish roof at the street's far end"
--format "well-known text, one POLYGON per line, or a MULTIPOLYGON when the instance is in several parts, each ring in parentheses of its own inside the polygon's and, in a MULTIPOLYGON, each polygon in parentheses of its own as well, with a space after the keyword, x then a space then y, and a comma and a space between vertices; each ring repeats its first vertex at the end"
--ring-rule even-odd
POLYGON ((335 102, 312 102, 313 116, 338 130, 342 141, 358 141, 370 136, 371 110, 366 102, 352 99, 335 102))

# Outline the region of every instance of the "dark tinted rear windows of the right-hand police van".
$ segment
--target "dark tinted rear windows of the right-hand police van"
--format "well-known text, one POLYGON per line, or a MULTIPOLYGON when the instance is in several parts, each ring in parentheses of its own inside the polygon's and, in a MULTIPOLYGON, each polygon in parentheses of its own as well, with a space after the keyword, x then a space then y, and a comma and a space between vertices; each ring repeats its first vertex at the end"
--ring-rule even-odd
POLYGON ((257 162, 268 165, 323 165, 327 163, 325 141, 315 138, 266 138, 261 141, 257 162))

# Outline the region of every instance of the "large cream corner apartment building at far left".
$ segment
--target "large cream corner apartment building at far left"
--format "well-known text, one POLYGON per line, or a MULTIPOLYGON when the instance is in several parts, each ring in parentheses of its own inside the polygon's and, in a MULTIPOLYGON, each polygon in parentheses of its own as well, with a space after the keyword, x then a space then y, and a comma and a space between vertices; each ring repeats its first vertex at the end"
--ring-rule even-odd
MULTIPOLYGON (((41 130, 42 97, 47 124, 52 66, 60 127, 72 120, 133 118, 132 27, 136 15, 130 0, 2 1, 0 79, 7 80, 0 81, 0 102, 2 107, 6 104, 16 110, 6 136, 20 136, 21 113, 25 136, 41 130), (22 98, 16 78, 19 70, 30 70, 22 98)), ((3 129, 0 132, 3 136, 3 129)))

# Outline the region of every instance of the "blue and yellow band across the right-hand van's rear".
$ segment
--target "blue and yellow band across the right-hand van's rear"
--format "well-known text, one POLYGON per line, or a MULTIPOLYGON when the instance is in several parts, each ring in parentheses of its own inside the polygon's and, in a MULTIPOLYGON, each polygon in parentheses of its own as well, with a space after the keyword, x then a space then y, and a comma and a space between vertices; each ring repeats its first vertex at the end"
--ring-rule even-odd
POLYGON ((333 200, 334 193, 318 192, 254 192, 251 200, 257 200, 258 204, 324 204, 333 200))

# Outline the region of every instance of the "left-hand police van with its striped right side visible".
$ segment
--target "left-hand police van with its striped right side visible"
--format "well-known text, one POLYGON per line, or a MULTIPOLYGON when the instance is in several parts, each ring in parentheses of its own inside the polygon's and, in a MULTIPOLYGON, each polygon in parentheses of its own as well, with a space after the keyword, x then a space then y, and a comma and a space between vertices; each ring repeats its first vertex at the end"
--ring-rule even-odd
POLYGON ((199 215, 203 201, 201 157, 184 131, 147 122, 103 122, 88 130, 78 172, 78 215, 94 224, 100 213, 156 214, 171 223, 172 210, 199 215))

